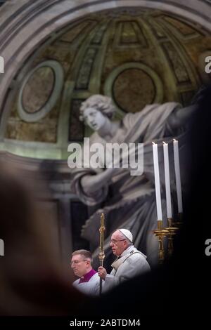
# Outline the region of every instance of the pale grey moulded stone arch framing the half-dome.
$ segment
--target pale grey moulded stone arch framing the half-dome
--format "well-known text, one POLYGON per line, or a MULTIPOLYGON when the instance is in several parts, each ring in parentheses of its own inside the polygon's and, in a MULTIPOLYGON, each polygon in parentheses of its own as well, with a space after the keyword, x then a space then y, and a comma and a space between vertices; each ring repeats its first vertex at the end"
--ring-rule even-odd
POLYGON ((46 41, 49 34, 56 33, 68 23, 92 12, 136 6, 177 13, 211 30, 210 4, 203 0, 183 5, 179 0, 80 0, 77 4, 70 0, 38 0, 36 3, 31 0, 19 0, 4 4, 1 7, 3 20, 0 25, 0 54, 5 60, 4 75, 0 76, 0 131, 8 116, 8 95, 13 93, 13 80, 20 65, 23 65, 35 48, 46 41))

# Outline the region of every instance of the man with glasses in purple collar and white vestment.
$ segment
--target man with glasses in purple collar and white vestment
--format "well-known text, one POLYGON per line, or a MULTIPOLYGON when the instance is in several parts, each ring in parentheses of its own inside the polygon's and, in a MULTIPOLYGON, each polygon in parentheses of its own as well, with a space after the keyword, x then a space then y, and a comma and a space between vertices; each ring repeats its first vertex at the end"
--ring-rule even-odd
POLYGON ((89 251, 77 250, 72 253, 71 268, 79 277, 72 285, 83 293, 96 296, 99 294, 99 277, 91 263, 92 257, 89 251))

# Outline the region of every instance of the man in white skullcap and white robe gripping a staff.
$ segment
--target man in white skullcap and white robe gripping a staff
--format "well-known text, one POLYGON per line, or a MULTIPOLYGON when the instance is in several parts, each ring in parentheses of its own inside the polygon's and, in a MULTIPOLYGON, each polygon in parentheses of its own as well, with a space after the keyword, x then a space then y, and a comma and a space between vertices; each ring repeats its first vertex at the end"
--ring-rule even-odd
POLYGON ((136 275, 151 270, 146 256, 133 245, 132 232, 127 229, 119 229, 113 232, 110 239, 110 247, 117 259, 111 265, 113 270, 110 275, 103 267, 98 268, 98 275, 104 279, 103 291, 112 289, 126 279, 132 279, 136 275))

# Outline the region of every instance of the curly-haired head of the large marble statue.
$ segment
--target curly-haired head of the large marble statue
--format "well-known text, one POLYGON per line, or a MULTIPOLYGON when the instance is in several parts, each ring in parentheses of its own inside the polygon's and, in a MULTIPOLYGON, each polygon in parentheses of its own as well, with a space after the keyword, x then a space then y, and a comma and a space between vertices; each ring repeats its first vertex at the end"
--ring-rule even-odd
POLYGON ((92 95, 80 107, 80 120, 85 121, 94 131, 98 131, 111 119, 115 112, 113 101, 108 96, 92 95))

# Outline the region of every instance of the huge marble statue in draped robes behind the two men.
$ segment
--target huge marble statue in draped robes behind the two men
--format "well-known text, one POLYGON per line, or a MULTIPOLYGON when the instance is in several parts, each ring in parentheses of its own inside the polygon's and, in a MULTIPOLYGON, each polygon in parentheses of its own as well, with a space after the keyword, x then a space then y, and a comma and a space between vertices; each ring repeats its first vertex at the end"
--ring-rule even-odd
MULTIPOLYGON (((122 168, 82 167, 72 170, 72 192, 89 206, 91 212, 82 228, 82 237, 89 241, 96 260, 99 219, 100 213, 103 212, 106 215, 106 256, 109 253, 110 234, 117 228, 124 227, 131 230, 134 235, 134 246, 146 254, 148 262, 151 265, 157 263, 158 242, 152 233, 157 227, 158 220, 152 141, 162 147, 163 140, 171 142, 172 138, 179 138, 180 150, 184 150, 186 124, 195 108, 196 105, 182 108, 179 103, 174 102, 153 104, 147 105, 140 112, 125 114, 121 121, 112 121, 115 106, 111 98, 92 95, 82 103, 81 119, 94 130, 90 144, 143 143, 144 148, 144 167, 141 176, 131 176, 130 169, 122 168)), ((160 180, 162 216, 165 220, 165 180, 162 173, 160 180)), ((172 200, 174 200, 174 188, 172 200)))

